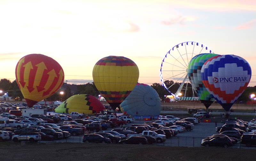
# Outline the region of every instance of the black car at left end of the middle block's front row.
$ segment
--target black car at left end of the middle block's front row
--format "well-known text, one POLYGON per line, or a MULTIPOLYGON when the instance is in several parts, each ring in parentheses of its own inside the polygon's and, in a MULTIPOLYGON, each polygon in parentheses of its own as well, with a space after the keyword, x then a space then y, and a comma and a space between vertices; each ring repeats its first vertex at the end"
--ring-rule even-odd
POLYGON ((84 134, 83 142, 111 143, 111 140, 99 134, 84 134))

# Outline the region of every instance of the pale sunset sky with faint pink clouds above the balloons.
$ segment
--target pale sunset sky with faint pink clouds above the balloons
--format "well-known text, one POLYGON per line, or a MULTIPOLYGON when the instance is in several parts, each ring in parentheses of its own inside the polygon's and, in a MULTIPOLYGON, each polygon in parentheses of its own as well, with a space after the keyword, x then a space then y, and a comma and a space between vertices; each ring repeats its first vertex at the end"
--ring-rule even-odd
POLYGON ((0 79, 15 80, 21 57, 55 59, 65 81, 92 81, 107 56, 132 59, 139 83, 161 83, 165 54, 200 42, 215 54, 243 57, 256 85, 255 0, 0 0, 0 79))

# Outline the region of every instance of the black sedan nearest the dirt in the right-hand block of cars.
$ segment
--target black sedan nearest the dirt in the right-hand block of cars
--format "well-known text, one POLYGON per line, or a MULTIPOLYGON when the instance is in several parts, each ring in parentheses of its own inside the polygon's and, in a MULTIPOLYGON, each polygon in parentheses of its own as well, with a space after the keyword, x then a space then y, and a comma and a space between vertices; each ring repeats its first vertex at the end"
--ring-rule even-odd
POLYGON ((202 140, 201 142, 202 146, 208 147, 208 146, 220 146, 227 148, 229 146, 233 146, 233 141, 226 137, 216 137, 211 140, 202 140))

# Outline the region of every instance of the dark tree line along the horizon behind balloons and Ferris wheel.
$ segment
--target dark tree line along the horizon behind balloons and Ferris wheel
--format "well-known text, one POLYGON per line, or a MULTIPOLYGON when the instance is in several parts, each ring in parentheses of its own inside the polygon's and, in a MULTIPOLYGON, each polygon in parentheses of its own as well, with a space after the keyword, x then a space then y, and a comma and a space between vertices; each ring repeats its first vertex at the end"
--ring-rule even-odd
MULTIPOLYGON (((174 83, 174 81, 172 81, 172 80, 171 81, 166 80, 166 81, 164 81, 164 84, 166 85, 166 87, 168 88, 168 90, 171 93, 175 94, 176 91, 178 90, 178 88, 180 87, 181 83, 177 83, 177 82, 174 83)), ((166 95, 171 94, 160 83, 153 83, 151 85, 151 87, 156 90, 156 92, 158 93, 161 100, 164 100, 166 95)), ((193 92, 193 88, 190 83, 185 83, 183 87, 184 88, 181 90, 181 93, 183 94, 182 96, 184 96, 185 87, 187 88, 187 91, 186 91, 187 97, 197 96, 196 93, 193 92)), ((23 99, 24 98, 22 96, 22 93, 20 91, 20 88, 19 88, 16 80, 11 82, 8 79, 1 79, 0 80, 0 90, 3 91, 3 93, 0 94, 0 96, 4 95, 4 93, 8 92, 8 95, 10 97, 12 97, 12 99, 15 99, 15 98, 23 99)), ((61 88, 59 89, 59 91, 56 92, 55 94, 53 94, 52 96, 48 97, 46 99, 46 101, 56 101, 56 100, 64 101, 64 100, 67 100, 70 96, 77 95, 77 94, 89 94, 89 95, 97 97, 100 94, 100 92, 98 91, 98 89, 96 88, 96 86, 94 85, 93 82, 86 83, 86 84, 80 84, 80 85, 68 84, 68 83, 64 82, 63 85, 61 86, 61 88), (60 91, 63 91, 64 94, 61 95, 60 91)), ((250 101, 251 94, 256 95, 256 86, 247 87, 246 90, 244 91, 244 93, 237 99, 237 102, 250 101)))

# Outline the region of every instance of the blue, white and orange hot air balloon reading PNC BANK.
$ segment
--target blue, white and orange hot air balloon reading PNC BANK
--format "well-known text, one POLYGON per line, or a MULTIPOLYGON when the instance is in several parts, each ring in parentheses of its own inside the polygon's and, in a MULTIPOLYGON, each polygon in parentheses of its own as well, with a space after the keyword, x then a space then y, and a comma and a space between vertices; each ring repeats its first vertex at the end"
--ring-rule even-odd
POLYGON ((207 60, 201 69, 204 86, 216 101, 229 111, 250 82, 249 63, 235 55, 220 55, 207 60))

